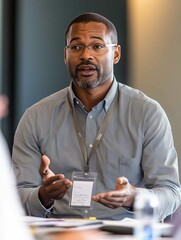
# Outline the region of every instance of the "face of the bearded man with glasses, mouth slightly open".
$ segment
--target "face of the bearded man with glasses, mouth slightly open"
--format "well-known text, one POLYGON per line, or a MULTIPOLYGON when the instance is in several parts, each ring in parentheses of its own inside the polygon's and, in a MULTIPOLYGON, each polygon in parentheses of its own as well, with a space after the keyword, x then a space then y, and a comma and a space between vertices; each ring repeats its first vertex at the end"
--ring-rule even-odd
POLYGON ((75 23, 70 27, 65 48, 65 63, 74 82, 81 88, 94 88, 113 79, 113 65, 120 59, 120 46, 97 48, 112 44, 103 23, 75 23), (80 46, 80 47, 79 47, 80 46), (80 50, 79 48, 83 49, 80 50), (90 46, 84 47, 84 46, 90 46), (92 48, 91 46, 96 46, 92 48), (75 50, 78 49, 78 50, 75 50))

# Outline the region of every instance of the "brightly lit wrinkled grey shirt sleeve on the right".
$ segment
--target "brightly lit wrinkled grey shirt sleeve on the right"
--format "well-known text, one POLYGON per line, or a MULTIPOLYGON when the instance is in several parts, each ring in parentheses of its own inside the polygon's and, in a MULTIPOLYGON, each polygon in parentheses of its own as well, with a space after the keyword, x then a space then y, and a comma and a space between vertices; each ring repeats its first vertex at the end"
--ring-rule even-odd
POLYGON ((181 189, 171 126, 166 113, 158 103, 154 111, 145 115, 143 127, 141 166, 144 188, 138 187, 137 191, 138 194, 147 194, 150 191, 157 196, 159 201, 157 216, 162 220, 174 213, 180 205, 181 189))

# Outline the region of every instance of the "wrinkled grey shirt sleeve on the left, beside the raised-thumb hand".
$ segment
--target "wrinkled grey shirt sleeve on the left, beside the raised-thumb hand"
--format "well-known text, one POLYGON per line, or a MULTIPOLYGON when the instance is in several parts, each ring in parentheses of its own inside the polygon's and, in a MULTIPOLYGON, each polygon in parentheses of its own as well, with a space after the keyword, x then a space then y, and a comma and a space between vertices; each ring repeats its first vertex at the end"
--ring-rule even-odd
POLYGON ((21 118, 15 133, 13 165, 17 178, 18 191, 28 215, 45 217, 49 210, 39 201, 38 191, 42 183, 37 174, 41 161, 41 148, 36 126, 36 115, 29 110, 21 118))

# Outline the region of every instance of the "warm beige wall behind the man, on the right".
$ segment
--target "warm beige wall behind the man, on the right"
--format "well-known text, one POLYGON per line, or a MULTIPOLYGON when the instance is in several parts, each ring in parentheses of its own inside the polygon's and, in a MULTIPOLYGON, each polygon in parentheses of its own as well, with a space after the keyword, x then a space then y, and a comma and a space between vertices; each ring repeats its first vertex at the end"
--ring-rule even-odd
POLYGON ((181 0, 128 0, 129 81, 161 103, 181 175, 181 0))

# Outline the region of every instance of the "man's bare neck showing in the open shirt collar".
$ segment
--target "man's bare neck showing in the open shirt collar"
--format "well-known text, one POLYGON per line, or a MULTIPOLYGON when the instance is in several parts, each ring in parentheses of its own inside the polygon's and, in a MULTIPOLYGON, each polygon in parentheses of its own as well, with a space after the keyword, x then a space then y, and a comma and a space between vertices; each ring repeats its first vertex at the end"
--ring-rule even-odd
POLYGON ((84 104, 86 110, 90 112, 94 106, 102 101, 108 93, 113 81, 104 83, 95 88, 80 88, 73 82, 73 90, 76 97, 84 104))

